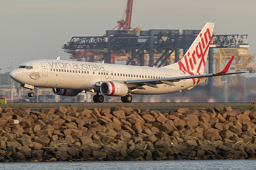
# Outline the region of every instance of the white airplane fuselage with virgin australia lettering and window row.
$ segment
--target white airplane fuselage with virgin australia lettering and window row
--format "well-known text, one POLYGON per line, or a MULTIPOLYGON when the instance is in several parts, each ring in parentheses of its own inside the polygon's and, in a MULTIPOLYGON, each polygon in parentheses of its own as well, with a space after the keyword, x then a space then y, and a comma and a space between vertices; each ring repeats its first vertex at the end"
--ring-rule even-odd
MULTIPOLYGON (((33 60, 22 63, 12 71, 12 78, 21 84, 34 87, 79 89, 91 91, 96 83, 107 81, 128 81, 190 76, 191 72, 179 69, 130 66, 65 60, 33 60), (25 68, 23 68, 25 66, 25 68), (32 66, 32 67, 29 67, 32 66), (19 68, 21 67, 21 68, 19 68)), ((196 75, 196 73, 193 73, 196 75)), ((174 82, 175 85, 158 84, 159 88, 144 85, 145 89, 133 89, 134 94, 164 94, 204 83, 187 79, 174 82), (195 82, 195 83, 194 83, 195 82)), ((129 85, 127 85, 129 87, 129 85)))

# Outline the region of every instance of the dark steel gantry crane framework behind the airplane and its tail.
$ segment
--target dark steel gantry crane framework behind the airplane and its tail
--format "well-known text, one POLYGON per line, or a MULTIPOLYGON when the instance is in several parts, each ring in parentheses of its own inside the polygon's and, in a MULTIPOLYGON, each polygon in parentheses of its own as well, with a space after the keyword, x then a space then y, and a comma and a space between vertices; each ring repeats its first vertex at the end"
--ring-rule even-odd
MULTIPOLYGON (((123 53, 122 50, 130 50, 132 54, 126 64, 129 64, 138 54, 148 53, 148 66, 156 66, 162 59, 164 61, 168 59, 168 55, 174 51, 176 52, 175 62, 179 61, 180 48, 183 49, 183 53, 186 53, 198 32, 199 30, 183 30, 184 34, 180 34, 179 30, 148 30, 141 31, 140 35, 137 35, 135 31, 107 30, 106 36, 72 37, 63 48, 65 52, 73 54, 73 57, 81 57, 75 56, 77 50, 101 50, 106 57, 106 63, 111 63, 113 58, 111 54, 123 53), (161 51, 165 53, 154 63, 154 53, 161 51), (170 53, 167 53, 169 51, 170 53)), ((212 72, 212 48, 248 47, 247 37, 248 35, 213 35, 209 52, 209 72, 212 72)), ((142 60, 144 61, 140 57, 140 61, 142 60)), ((160 67, 163 63, 162 61, 158 66, 160 67)), ((144 62, 140 62, 140 65, 144 65, 144 62)))

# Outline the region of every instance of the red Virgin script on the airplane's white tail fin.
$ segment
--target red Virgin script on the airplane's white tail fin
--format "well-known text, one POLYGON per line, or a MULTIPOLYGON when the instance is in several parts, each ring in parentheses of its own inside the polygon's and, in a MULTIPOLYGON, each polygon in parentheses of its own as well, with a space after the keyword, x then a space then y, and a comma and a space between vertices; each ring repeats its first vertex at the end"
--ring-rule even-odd
MULTIPOLYGON (((196 70, 196 72, 199 72, 202 63, 205 66, 205 61, 206 61, 205 57, 207 57, 205 56, 205 54, 209 49, 209 46, 211 43, 211 37, 212 37, 209 28, 207 28, 205 33, 202 34, 201 32, 199 36, 201 37, 201 39, 199 40, 199 42, 198 41, 195 42, 195 43, 198 42, 198 44, 195 47, 195 50, 193 51, 189 49, 186 55, 184 56, 184 60, 181 60, 178 62, 180 70, 184 70, 184 71, 196 70), (192 55, 191 55, 191 52, 192 52, 192 55), (196 61, 199 62, 198 65, 196 61), (197 69, 194 69, 194 67, 196 66, 197 66, 197 69)), ((196 39, 198 39, 198 37, 196 39)))

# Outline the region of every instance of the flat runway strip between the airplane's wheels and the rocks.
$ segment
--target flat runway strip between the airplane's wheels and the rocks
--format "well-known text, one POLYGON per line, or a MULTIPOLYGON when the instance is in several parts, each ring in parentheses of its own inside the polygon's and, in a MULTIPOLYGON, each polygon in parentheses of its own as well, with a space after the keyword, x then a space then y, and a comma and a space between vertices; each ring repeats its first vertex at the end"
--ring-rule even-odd
MULTIPOLYGON (((76 108, 101 108, 101 107, 132 107, 138 109, 154 110, 175 110, 178 108, 205 109, 210 107, 224 108, 231 106, 232 109, 249 109, 251 103, 9 103, 0 105, 3 109, 10 107, 12 109, 41 109, 41 108, 58 108, 60 106, 73 105, 76 108)), ((255 105, 254 105, 255 106, 255 105)))

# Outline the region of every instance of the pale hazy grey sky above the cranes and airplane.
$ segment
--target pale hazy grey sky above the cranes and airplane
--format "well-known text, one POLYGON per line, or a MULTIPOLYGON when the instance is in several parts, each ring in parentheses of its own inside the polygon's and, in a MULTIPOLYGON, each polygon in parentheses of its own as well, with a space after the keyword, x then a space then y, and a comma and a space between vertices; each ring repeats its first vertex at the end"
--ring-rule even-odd
MULTIPOLYGON (((126 0, 0 0, 0 68, 34 59, 69 59, 63 44, 72 36, 101 36, 125 16, 126 0)), ((255 0, 134 0, 131 27, 202 29, 215 22, 218 34, 249 34, 256 48, 255 0)))

